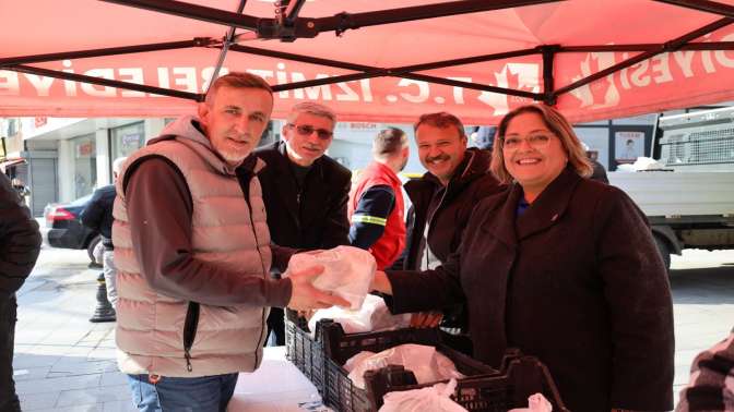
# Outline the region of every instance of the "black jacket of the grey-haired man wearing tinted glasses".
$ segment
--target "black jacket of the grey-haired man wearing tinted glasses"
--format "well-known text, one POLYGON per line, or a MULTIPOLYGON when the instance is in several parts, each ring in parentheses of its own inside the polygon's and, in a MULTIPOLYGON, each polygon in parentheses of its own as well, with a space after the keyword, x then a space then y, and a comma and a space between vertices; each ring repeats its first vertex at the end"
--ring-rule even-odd
POLYGON ((258 179, 273 243, 306 250, 350 244, 348 169, 328 156, 317 159, 306 177, 299 203, 285 142, 259 148, 256 154, 265 161, 258 179))

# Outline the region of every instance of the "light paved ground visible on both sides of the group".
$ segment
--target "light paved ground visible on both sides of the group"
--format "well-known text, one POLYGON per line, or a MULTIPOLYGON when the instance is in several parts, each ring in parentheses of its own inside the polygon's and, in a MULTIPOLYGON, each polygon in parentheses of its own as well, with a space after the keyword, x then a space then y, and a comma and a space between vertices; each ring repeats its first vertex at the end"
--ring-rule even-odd
MULTIPOLYGON (((26 412, 134 411, 117 371, 115 323, 88 322, 99 269, 87 264, 85 251, 44 249, 19 293, 14 367, 26 412)), ((734 251, 686 251, 673 265, 677 402, 692 359, 734 326, 734 251)))

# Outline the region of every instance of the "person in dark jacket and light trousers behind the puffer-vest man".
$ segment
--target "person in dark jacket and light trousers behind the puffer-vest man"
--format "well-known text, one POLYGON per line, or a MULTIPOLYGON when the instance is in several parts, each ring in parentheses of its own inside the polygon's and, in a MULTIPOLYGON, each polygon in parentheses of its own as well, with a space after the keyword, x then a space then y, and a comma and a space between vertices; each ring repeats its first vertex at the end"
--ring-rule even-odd
POLYGON ((115 182, 120 173, 127 157, 120 157, 113 162, 113 184, 94 191, 90 203, 82 210, 82 223, 99 232, 105 252, 102 255, 107 299, 113 307, 117 308, 117 268, 115 267, 115 247, 113 246, 113 206, 115 205, 115 182))

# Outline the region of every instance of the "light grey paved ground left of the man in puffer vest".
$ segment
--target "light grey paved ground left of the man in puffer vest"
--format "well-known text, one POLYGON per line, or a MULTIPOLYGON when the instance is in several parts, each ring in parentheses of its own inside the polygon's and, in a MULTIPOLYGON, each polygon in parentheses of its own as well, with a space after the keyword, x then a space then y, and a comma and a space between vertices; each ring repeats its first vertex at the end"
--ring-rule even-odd
POLYGON ((134 411, 115 323, 93 324, 99 269, 85 251, 44 249, 19 292, 15 389, 23 411, 134 411))

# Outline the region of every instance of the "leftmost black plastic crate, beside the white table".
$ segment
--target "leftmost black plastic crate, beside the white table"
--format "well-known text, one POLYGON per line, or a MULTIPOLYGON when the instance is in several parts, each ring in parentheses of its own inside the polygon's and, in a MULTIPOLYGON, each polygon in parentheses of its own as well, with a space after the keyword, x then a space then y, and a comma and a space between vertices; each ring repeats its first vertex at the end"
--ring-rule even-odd
POLYGON ((304 373, 323 398, 325 359, 322 339, 312 339, 308 322, 294 311, 285 311, 285 356, 304 373))

